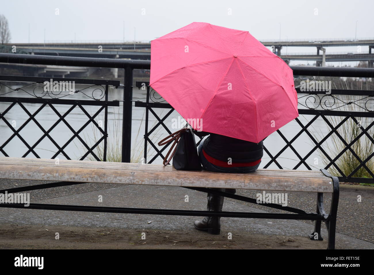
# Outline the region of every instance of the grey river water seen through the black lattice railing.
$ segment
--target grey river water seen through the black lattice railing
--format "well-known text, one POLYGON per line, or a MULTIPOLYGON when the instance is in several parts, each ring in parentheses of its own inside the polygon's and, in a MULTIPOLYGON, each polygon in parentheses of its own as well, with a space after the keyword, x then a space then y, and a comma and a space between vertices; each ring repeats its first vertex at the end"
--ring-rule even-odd
MULTIPOLYGON (((12 89, 20 88, 21 86, 12 86, 12 89)), ((79 85, 76 85, 76 89, 82 89, 79 85)), ((30 87, 24 89, 25 91, 32 93, 33 88, 30 87)), ((92 91, 94 88, 86 88, 85 94, 91 96, 92 91)), ((6 92, 11 91, 6 86, 2 86, 0 90, 0 95, 6 92)), ((30 97, 25 91, 18 90, 12 91, 9 94, 3 96, 9 97, 30 97)), ((37 91, 37 90, 36 90, 37 91)), ((98 91, 95 91, 98 92, 98 91)), ((299 98, 303 96, 302 94, 298 95, 299 98)), ((109 100, 122 100, 123 98, 123 89, 119 88, 116 89, 114 87, 110 87, 109 89, 109 100)), ((141 100, 145 101, 146 91, 139 90, 138 88, 134 88, 133 90, 133 99, 134 100, 141 100)), ((89 100, 90 98, 86 97, 86 95, 82 93, 77 93, 73 95, 68 95, 64 97, 65 99, 79 99, 79 100, 89 100)), ((374 100, 372 100, 374 101, 374 100)), ((301 101, 299 101, 301 102, 301 101)), ((304 102, 304 101, 303 101, 304 102)), ((372 104, 372 103, 370 103, 372 104)), ((6 108, 10 105, 10 103, 0 102, 0 112, 3 113, 6 108)), ((25 108, 33 114, 35 111, 39 109, 41 104, 31 104, 31 103, 24 103, 25 108)), ((300 104, 299 104, 300 105, 300 104)), ((309 100, 309 106, 313 105, 313 101, 309 100)), ((71 106, 67 105, 53 105, 56 110, 60 114, 64 114, 71 106)), ((83 106, 89 114, 93 115, 97 110, 98 107, 96 106, 83 106)), ((300 105, 300 108, 303 106, 300 105)), ((371 107, 372 108, 372 107, 371 107)), ((164 116, 169 109, 154 109, 154 111, 160 117, 164 116)), ((179 114, 174 111, 168 119, 165 120, 165 125, 174 132, 177 129, 172 129, 172 119, 178 119, 179 114)), ((5 119, 13 125, 14 129, 18 129, 27 119, 27 113, 22 110, 22 108, 18 105, 14 106, 5 114, 5 119)), ((308 123, 313 116, 304 116, 300 115, 299 119, 301 123, 304 125, 308 123)), ((36 116, 37 122, 43 126, 44 129, 49 129, 53 123, 56 122, 58 116, 56 113, 49 107, 46 106, 43 108, 36 116)), ((104 128, 104 111, 96 117, 96 122, 99 124, 102 123, 102 127, 104 128)), ((84 123, 88 121, 88 117, 83 113, 83 111, 79 107, 75 107, 67 116, 66 121, 71 125, 71 127, 78 131, 84 123)), ((148 120, 148 128, 151 128, 155 125, 158 120, 150 113, 149 120, 148 120)), ((364 120, 362 123, 363 125, 368 125, 373 121, 372 118, 364 120)), ((145 127, 145 109, 141 107, 133 107, 132 109, 132 156, 135 162, 141 161, 141 157, 143 155, 143 146, 144 146, 144 127, 145 127)), ((82 140, 85 141, 89 146, 92 146, 96 142, 96 137, 99 136, 99 132, 94 130, 93 123, 90 123, 86 128, 80 133, 80 137, 82 140)), ((319 117, 315 122, 313 122, 312 126, 308 128, 313 135, 317 137, 323 137, 324 135, 328 134, 329 128, 324 122, 324 120, 319 117)), ((300 125, 297 122, 292 121, 287 125, 281 128, 282 134, 285 136, 287 140, 291 140, 299 131, 301 130, 300 125)), ((108 108, 108 132, 109 132, 109 143, 119 148, 120 146, 120 134, 122 131, 122 102, 120 102, 120 107, 109 107, 108 108)), ((13 131, 9 128, 6 123, 0 119, 0 144, 3 144, 10 135, 12 135, 13 131)), ((35 122, 31 121, 25 126, 20 132, 20 135, 24 140, 32 146, 39 138, 43 135, 43 131, 36 125, 35 122)), ((165 137, 167 132, 162 128, 159 127, 157 131, 150 135, 151 140, 157 144, 157 142, 165 137)), ((59 145, 62 146, 66 143, 66 141, 73 136, 73 133, 70 129, 63 123, 60 122, 51 132, 50 137, 59 145)), ((321 139, 321 138, 319 138, 321 139)), ((330 140, 327 140, 327 144, 331 143, 330 140)), ((307 134, 303 133, 297 140, 292 143, 292 146, 295 148, 296 152, 304 157, 314 146, 312 145, 312 140, 307 136, 307 134)), ((265 141, 264 145, 269 150, 269 152, 274 156, 278 153, 285 145, 286 142, 279 136, 278 133, 273 133, 270 135, 265 141)), ((18 138, 14 137, 4 148, 3 150, 9 155, 14 157, 21 157, 27 152, 27 146, 18 138)), ((34 149, 35 152, 39 155, 40 158, 51 158, 56 152, 55 145, 49 140, 49 138, 45 137, 34 149)), ((113 149, 110 149, 113 150, 113 149)), ((74 138, 73 142, 71 142, 64 151, 71 159, 79 159, 86 151, 83 144, 80 142, 78 138, 74 138)), ((148 145, 148 154, 147 160, 149 161, 152 156, 154 156, 155 150, 148 145)), ((0 152, 0 156, 3 154, 0 152)), ((33 153, 29 153, 28 157, 33 158, 33 153)), ((60 154, 58 156, 60 159, 65 159, 65 157, 60 154)), ((262 168, 267 162, 269 161, 269 156, 264 153, 263 161, 261 162, 260 168, 262 168)), ((290 148, 286 149, 278 159, 278 162, 282 165, 285 169, 292 169, 298 163, 298 157, 290 148)), ((307 164, 309 164, 313 169, 323 168, 322 160, 318 154, 318 152, 314 152, 309 158, 306 160, 307 164), (318 162, 318 163, 317 163, 318 162)), ((162 159, 158 157, 154 163, 161 164, 162 159)), ((269 166, 269 168, 278 168, 275 164, 269 166)), ((301 165, 299 169, 306 169, 304 165, 301 165)))

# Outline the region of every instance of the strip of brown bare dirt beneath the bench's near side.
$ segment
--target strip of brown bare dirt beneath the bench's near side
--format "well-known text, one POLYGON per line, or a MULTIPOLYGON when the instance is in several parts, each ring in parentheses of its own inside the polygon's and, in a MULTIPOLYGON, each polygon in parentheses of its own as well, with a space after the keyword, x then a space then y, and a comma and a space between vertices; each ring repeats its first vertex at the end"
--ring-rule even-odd
MULTIPOLYGON (((0 249, 326 249, 327 242, 300 236, 211 235, 206 232, 123 230, 2 224, 0 249), (56 232, 59 239, 55 239, 56 232), (142 233, 145 239, 142 239, 142 233), (143 234, 144 235, 144 234, 143 234)), ((337 247, 339 248, 339 247, 337 247)), ((343 248, 343 247, 342 247, 343 248)))

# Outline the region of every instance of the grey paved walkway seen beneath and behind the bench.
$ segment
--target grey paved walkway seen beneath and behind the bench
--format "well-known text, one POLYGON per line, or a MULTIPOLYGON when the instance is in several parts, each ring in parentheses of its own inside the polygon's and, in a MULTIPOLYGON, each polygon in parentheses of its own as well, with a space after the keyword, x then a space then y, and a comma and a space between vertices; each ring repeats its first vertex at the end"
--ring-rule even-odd
MULTIPOLYGON (((42 183, 42 182, 40 182, 42 183)), ((1 189, 7 187, 36 184, 35 181, 0 181, 1 189)), ((31 201, 46 204, 93 205, 111 207, 168 208, 182 210, 204 210, 206 193, 184 189, 182 187, 80 184, 79 186, 58 187, 54 190, 35 190, 30 192, 31 201), (105 189, 108 188, 109 189, 105 189), (111 188, 110 188, 111 187, 111 188), (101 189, 101 190, 100 190, 101 189), (91 192, 86 192, 92 190, 91 192), (68 195, 76 193, 75 195, 68 195), (103 202, 98 202, 99 196, 103 202), (185 202, 185 195, 189 202, 185 202)), ((255 205, 257 207, 257 205, 255 205)), ((292 205, 296 206, 297 205, 292 205)), ((225 200, 224 211, 266 212, 244 204, 225 200)), ((52 211, 33 209, 0 210, 0 223, 7 224, 45 224, 50 226, 80 227, 117 227, 144 230, 181 230, 195 232, 192 223, 200 217, 163 216, 140 214, 89 213, 78 211, 52 211), (151 221, 151 223, 148 223, 151 221)), ((313 224, 296 220, 239 219, 221 218, 221 234, 227 232, 247 232, 248 234, 307 236, 313 230, 313 224)), ((339 221, 338 221, 339 223, 339 221)), ((0 226, 1 228, 1 226, 0 226)), ((322 230, 327 239, 327 230, 322 230)), ((306 242, 310 242, 305 238, 306 242)), ((338 233, 337 248, 373 249, 374 244, 361 239, 338 233)))

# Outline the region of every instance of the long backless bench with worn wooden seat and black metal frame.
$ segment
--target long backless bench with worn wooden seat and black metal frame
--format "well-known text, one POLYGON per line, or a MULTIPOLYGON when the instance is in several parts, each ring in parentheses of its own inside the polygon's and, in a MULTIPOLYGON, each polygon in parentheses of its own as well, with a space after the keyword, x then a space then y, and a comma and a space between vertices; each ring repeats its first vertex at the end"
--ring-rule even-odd
MULTIPOLYGON (((214 193, 228 198, 257 203, 256 199, 221 192, 209 188, 235 188, 271 191, 316 192, 316 213, 284 207, 279 204, 262 204, 292 214, 217 212, 193 210, 168 210, 146 208, 93 207, 78 205, 30 204, 30 209, 92 211, 109 213, 137 213, 179 216, 220 216, 260 219, 315 220, 315 229, 310 234, 312 240, 322 240, 321 222, 328 229, 328 249, 335 247, 335 224, 339 199, 339 182, 324 169, 321 171, 258 169, 255 173, 217 173, 209 171, 178 171, 171 165, 132 164, 119 162, 92 162, 34 158, 0 157, 0 178, 17 180, 59 181, 1 190, 0 193, 25 192, 36 189, 66 186, 80 183, 116 183, 181 186, 206 193, 214 193), (332 193, 331 209, 325 213, 323 193, 332 193)), ((1 187, 0 187, 1 189, 1 187)), ((0 207, 24 208, 23 204, 0 204, 0 207)))

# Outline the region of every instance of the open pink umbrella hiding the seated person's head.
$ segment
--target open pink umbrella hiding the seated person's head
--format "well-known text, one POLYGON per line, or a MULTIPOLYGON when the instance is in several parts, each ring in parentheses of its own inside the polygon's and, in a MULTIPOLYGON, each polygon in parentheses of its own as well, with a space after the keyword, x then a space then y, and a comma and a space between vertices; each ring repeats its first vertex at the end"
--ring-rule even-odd
POLYGON ((152 40, 150 86, 194 129, 255 143, 298 117, 291 68, 248 31, 193 22, 152 40))

